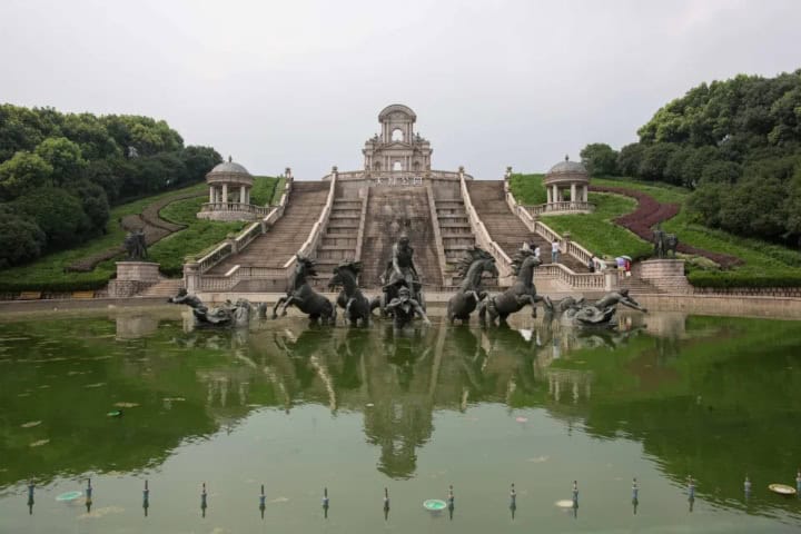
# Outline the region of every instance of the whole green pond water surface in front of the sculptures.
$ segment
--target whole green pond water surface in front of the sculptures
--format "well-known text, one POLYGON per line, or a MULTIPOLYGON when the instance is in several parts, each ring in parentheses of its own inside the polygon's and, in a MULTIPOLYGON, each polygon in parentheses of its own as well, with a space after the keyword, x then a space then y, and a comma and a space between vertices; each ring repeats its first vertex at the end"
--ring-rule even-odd
POLYGON ((582 336, 530 317, 198 330, 178 307, 0 320, 2 533, 798 532, 801 501, 767 486, 794 487, 799 465, 797 322, 633 314, 582 336), (89 512, 56 500, 88 477, 89 512), (423 507, 449 485, 453 518, 423 507))

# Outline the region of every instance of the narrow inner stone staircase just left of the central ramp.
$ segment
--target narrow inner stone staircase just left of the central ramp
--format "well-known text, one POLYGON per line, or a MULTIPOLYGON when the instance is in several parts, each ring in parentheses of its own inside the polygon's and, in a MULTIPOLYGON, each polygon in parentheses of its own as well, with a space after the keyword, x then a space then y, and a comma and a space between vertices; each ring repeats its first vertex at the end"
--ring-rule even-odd
POLYGON ((363 202, 360 198, 334 198, 328 226, 320 236, 315 255, 318 275, 315 286, 318 288, 327 287, 328 280, 334 276, 334 267, 343 259, 355 259, 358 256, 356 245, 364 224, 363 202))

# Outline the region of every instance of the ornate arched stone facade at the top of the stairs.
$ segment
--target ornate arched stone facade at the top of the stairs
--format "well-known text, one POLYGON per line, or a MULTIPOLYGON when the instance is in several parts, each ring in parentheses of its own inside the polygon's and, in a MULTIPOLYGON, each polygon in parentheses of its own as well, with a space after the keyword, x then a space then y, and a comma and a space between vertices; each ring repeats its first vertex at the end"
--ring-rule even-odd
POLYGON ((431 170, 431 142, 414 131, 417 116, 406 106, 393 103, 378 113, 380 135, 365 142, 362 150, 366 171, 431 170))

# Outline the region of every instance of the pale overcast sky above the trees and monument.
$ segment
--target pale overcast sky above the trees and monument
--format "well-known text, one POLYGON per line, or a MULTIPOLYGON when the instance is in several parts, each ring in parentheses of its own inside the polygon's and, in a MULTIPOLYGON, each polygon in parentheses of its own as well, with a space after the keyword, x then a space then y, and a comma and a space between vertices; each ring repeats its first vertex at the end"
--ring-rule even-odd
POLYGON ((669 100, 801 67, 801 1, 0 2, 0 101, 167 120, 254 174, 363 167, 389 103, 435 169, 544 171, 669 100))

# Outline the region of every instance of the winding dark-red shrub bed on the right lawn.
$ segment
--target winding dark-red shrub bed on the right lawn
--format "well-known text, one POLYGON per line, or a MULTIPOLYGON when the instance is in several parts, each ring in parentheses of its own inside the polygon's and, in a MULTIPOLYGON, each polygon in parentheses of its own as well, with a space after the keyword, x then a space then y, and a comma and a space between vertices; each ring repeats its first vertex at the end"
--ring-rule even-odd
MULTIPOLYGON (((624 195, 636 199, 637 209, 631 214, 623 215, 614 219, 614 221, 622 227, 633 231, 640 238, 646 241, 653 241, 652 227, 659 222, 665 221, 675 217, 679 214, 680 206, 678 204, 662 204, 653 198, 651 195, 637 191, 635 189, 627 189, 625 187, 606 187, 606 186, 591 186, 590 189, 596 192, 612 192, 615 195, 624 195)), ((681 239, 681 236, 679 236, 681 239)), ((742 264, 743 260, 730 256, 728 254, 713 253, 696 248, 684 243, 679 244, 679 251, 684 254, 694 254, 711 259, 715 264, 720 265, 721 268, 728 269, 735 265, 742 264)))

